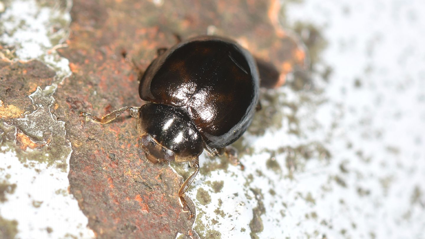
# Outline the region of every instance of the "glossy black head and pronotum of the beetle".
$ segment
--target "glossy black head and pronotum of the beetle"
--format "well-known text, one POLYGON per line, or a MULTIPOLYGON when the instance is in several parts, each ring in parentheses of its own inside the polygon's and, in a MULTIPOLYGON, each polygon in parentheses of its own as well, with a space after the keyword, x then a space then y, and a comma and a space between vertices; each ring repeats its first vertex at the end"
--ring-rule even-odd
POLYGON ((152 162, 187 162, 204 150, 204 141, 181 109, 170 105, 142 105, 137 120, 140 145, 152 162))

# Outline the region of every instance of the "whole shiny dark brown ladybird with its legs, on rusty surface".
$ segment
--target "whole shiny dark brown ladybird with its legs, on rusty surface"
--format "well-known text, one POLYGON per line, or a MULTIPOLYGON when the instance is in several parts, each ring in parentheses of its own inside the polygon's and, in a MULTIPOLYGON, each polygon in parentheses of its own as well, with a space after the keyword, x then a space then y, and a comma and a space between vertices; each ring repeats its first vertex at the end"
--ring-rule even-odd
POLYGON ((225 146, 241 137, 252 121, 258 105, 258 69, 247 50, 216 36, 195 37, 158 53, 139 85, 140 98, 149 103, 121 108, 102 119, 80 115, 105 124, 130 110, 149 160, 189 162, 195 172, 178 196, 191 218, 184 197, 199 171, 198 156, 204 148, 214 156, 226 153, 239 164, 235 151, 225 146))

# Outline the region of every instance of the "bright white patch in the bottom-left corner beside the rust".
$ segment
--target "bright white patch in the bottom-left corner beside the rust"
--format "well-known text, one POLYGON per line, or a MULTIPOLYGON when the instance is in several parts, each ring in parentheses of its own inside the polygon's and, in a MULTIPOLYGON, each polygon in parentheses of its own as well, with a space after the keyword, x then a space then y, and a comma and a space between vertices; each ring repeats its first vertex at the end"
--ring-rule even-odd
POLYGON ((68 172, 47 163, 28 167, 13 152, 2 154, 0 178, 16 184, 13 194, 0 203, 3 218, 18 222, 17 238, 91 238, 87 219, 77 200, 68 194, 68 172), (68 236, 66 236, 68 234, 68 236))

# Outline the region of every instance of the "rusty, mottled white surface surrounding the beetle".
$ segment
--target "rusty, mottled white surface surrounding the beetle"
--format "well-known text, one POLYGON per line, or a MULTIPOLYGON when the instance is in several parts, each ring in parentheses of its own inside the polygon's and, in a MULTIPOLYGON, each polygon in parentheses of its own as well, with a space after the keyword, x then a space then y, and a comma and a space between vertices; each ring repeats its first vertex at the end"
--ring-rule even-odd
POLYGON ((0 238, 425 238, 424 26, 420 0, 3 0, 0 238), (147 162, 134 119, 78 117, 141 105, 129 62, 176 34, 284 83, 233 144, 244 171, 200 156, 192 221, 187 164, 147 162))

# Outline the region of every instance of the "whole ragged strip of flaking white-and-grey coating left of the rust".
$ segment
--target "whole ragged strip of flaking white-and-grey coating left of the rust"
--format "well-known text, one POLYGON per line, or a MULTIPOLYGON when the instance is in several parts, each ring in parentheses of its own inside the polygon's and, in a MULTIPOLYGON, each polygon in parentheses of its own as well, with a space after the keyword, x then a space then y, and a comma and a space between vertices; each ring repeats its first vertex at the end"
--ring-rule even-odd
POLYGON ((35 111, 3 125, 3 145, 14 144, 19 128, 50 150, 36 156, 37 150, 27 149, 36 156, 31 158, 1 147, 5 152, 0 155, 0 179, 6 177, 16 188, 0 203, 0 215, 17 222, 17 238, 91 238, 94 234, 87 228, 87 217, 68 193, 72 149, 65 139, 65 123, 51 113, 57 84, 71 74, 68 60, 55 51, 68 37, 71 1, 14 0, 5 6, 0 20, 2 57, 40 60, 53 68, 56 76, 51 85, 28 96, 35 111))

